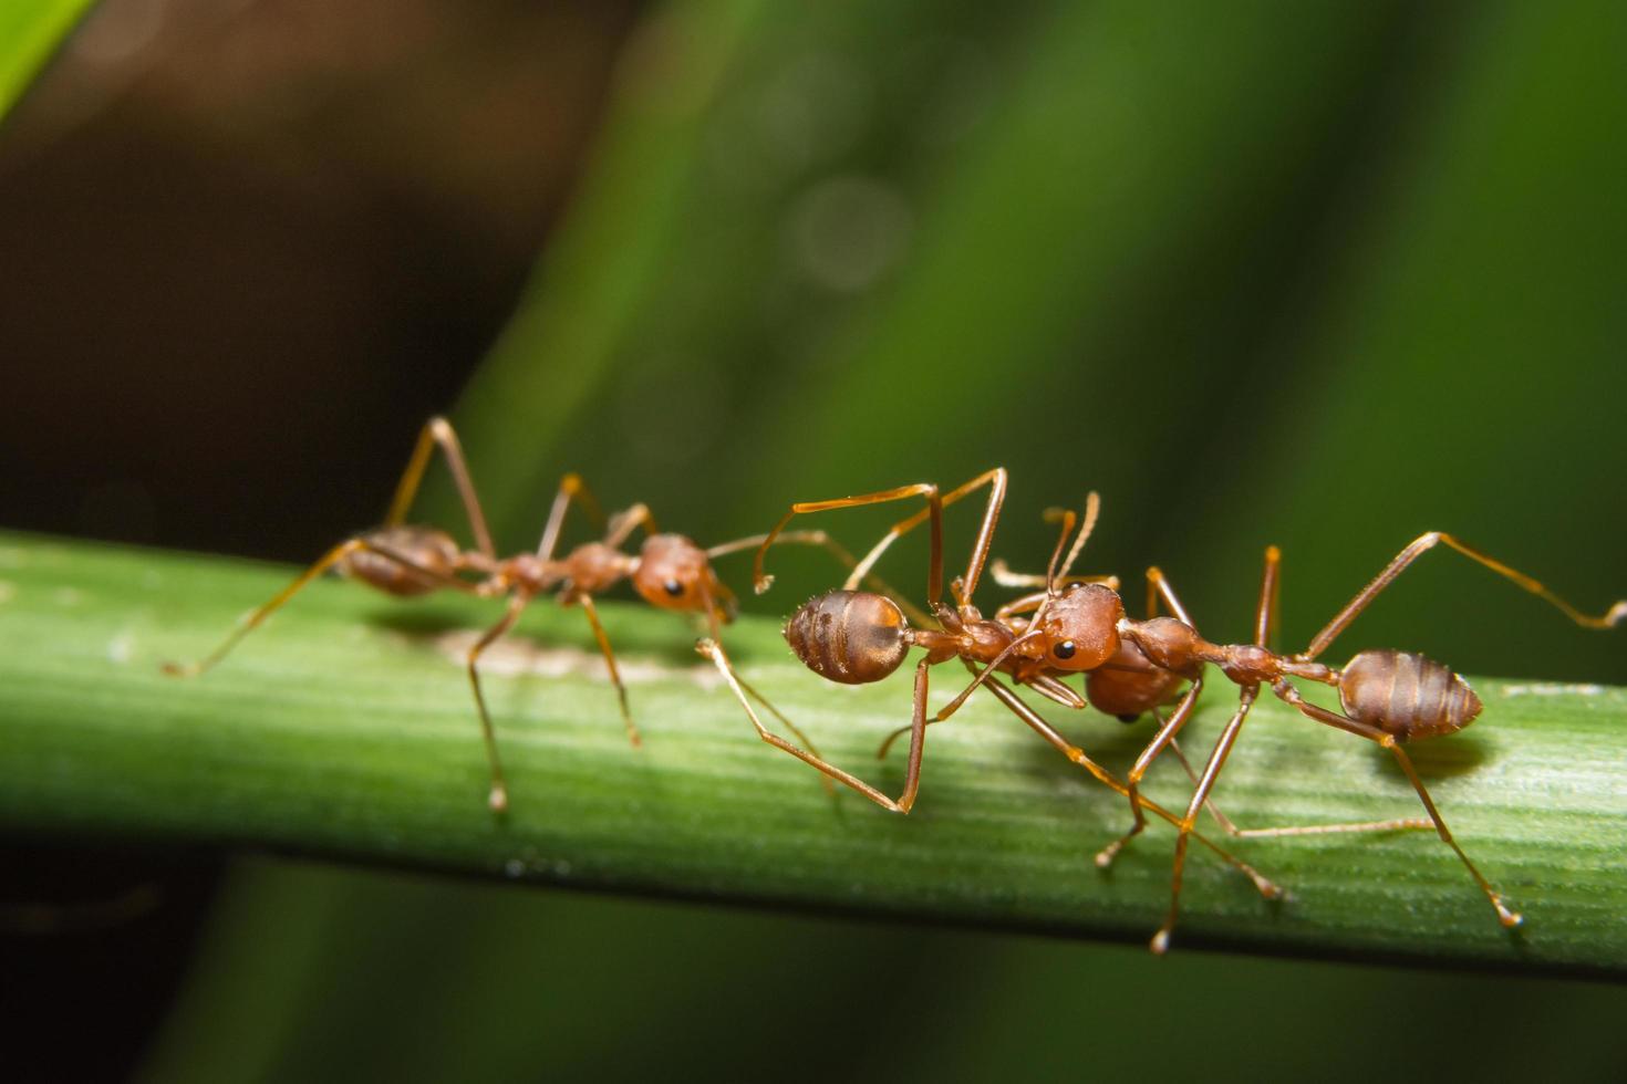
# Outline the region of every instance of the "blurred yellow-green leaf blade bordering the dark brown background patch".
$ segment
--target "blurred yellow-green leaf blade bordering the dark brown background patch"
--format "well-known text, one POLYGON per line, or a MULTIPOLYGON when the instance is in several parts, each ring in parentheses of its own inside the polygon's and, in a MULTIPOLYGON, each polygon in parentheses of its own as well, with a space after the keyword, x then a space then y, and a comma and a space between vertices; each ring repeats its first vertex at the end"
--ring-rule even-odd
POLYGON ((582 192, 459 405, 473 457, 504 465, 482 471, 499 533, 535 530, 537 494, 571 470, 563 431, 610 379, 628 325, 649 304, 706 150, 701 117, 760 7, 667 5, 622 59, 582 192))

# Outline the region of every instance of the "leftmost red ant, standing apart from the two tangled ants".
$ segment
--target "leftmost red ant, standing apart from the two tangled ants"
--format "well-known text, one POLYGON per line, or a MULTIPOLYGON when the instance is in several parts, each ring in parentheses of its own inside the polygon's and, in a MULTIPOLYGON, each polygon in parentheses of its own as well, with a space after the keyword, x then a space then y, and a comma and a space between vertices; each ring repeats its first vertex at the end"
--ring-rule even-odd
MULTIPOLYGON (((335 569, 340 575, 366 583, 389 595, 412 598, 428 595, 436 590, 457 590, 482 598, 508 598, 508 609, 503 618, 486 629, 486 632, 469 648, 465 666, 469 684, 475 694, 475 707, 480 712, 480 728, 485 736, 486 757, 491 764, 490 806, 495 811, 508 808, 508 785, 503 778, 503 765, 498 761, 496 735, 491 730, 491 715, 480 689, 480 655, 501 639, 530 601, 543 592, 556 592, 556 600, 563 606, 581 606, 587 624, 592 626, 594 640, 604 653, 605 668, 615 684, 617 699, 622 705, 622 720, 626 725, 628 739, 633 746, 641 744, 638 726, 626 702, 626 686, 617 670, 615 653, 599 621, 599 609, 594 595, 600 595, 623 579, 633 582, 633 590, 652 606, 661 609, 677 609, 706 614, 711 637, 716 640, 719 627, 734 619, 734 593, 718 580, 711 559, 742 549, 758 546, 765 536, 739 538, 721 546, 703 549, 683 535, 657 533, 656 520, 643 504, 610 517, 605 535, 600 541, 584 543, 571 549, 565 557, 555 559, 553 551, 560 541, 560 528, 565 514, 576 501, 586 507, 589 515, 599 517, 597 502, 576 475, 566 475, 560 483, 560 491, 548 512, 547 527, 535 553, 522 553, 513 557, 498 557, 491 544, 491 531, 486 530, 485 514, 480 510, 480 499, 470 481, 469 468, 464 463, 464 452, 457 442, 457 434, 444 418, 431 418, 418 436, 407 470, 395 488, 384 525, 363 531, 342 541, 319 557, 311 567, 299 574, 293 583, 272 596, 259 609, 249 613, 238 622, 238 627, 216 647, 195 663, 166 663, 164 671, 176 676, 194 676, 207 671, 236 647, 238 640, 254 631, 262 621, 293 598, 303 587, 311 583, 327 569, 335 569), (430 455, 439 447, 446 457, 452 479, 464 501, 464 512, 469 517, 469 528, 475 536, 475 549, 464 549, 449 533, 433 527, 415 527, 405 522, 418 492, 418 483, 430 463, 430 455), (643 528, 644 541, 638 554, 622 551, 635 528, 643 528)), ((789 541, 823 546, 835 557, 853 566, 853 556, 835 543, 825 531, 797 531, 789 541)), ((783 720, 802 738, 800 731, 789 720, 783 720)), ((807 741, 805 738, 802 738, 807 741)))

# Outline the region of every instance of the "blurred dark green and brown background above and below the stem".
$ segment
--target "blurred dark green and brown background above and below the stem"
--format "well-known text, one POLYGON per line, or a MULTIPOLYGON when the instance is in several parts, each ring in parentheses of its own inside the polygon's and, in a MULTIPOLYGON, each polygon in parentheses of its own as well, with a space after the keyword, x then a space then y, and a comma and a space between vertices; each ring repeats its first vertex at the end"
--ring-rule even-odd
MULTIPOLYGON (((999 553, 1041 564, 1040 510, 1100 489, 1085 564, 1160 564, 1212 637, 1264 544, 1292 647, 1429 528, 1601 609, 1624 55, 1611 3, 107 0, 0 132, 0 523, 308 561, 451 408, 511 548, 566 470, 721 541, 1004 463, 999 553)), ((779 561, 748 606, 827 585, 779 561)), ((1367 645, 1627 684, 1619 634, 1445 554, 1334 657, 1367 645)), ((179 991, 98 1063, 158 1035, 155 1079, 1627 1064, 1607 986, 273 860, 98 936, 138 960, 8 951, 88 969, 107 1021, 179 991)))

